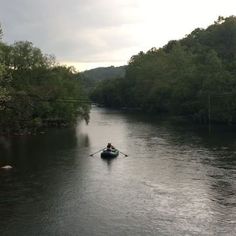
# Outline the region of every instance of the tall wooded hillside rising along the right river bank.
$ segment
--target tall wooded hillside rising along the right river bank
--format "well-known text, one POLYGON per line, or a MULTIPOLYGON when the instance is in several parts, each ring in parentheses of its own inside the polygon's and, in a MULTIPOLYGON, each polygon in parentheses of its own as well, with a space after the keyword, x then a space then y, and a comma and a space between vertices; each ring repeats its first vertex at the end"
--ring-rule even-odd
POLYGON ((107 107, 235 123, 235 88, 236 17, 230 16, 132 56, 125 77, 101 81, 91 97, 107 107))

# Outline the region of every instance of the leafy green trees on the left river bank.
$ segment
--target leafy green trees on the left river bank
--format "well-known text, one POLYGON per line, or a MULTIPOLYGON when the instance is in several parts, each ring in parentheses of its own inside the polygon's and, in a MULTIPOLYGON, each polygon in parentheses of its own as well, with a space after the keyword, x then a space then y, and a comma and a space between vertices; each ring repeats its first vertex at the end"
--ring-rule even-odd
POLYGON ((31 134, 88 121, 90 104, 72 67, 60 66, 31 42, 8 45, 0 27, 0 134, 31 134))

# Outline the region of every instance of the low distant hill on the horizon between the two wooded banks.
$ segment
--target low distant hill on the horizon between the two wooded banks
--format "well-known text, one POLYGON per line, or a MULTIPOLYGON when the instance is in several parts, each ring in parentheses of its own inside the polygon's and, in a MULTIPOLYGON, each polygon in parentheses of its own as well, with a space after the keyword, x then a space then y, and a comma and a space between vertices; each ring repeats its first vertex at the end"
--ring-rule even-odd
POLYGON ((126 66, 109 66, 109 67, 99 67, 92 70, 86 70, 81 72, 80 75, 84 78, 91 80, 104 80, 104 79, 115 79, 125 77, 126 66))

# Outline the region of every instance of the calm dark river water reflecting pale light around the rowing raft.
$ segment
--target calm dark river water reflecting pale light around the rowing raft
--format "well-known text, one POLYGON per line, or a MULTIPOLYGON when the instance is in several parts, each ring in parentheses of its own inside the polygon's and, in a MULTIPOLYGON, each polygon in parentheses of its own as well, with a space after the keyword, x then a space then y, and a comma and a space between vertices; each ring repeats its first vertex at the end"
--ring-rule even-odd
POLYGON ((236 132, 94 107, 0 138, 0 235, 236 235, 236 132), (89 154, 112 142, 106 161, 89 154))

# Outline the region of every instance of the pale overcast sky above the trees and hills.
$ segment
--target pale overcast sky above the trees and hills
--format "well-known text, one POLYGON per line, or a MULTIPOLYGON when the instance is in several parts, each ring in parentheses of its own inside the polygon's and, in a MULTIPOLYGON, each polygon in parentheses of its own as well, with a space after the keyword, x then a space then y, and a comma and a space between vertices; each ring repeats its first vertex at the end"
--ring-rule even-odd
POLYGON ((236 0, 0 0, 5 42, 31 41, 80 71, 127 64, 219 15, 236 15, 236 0))

